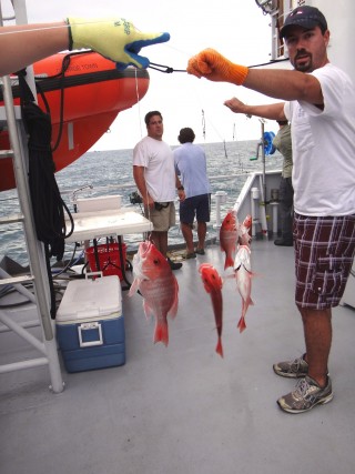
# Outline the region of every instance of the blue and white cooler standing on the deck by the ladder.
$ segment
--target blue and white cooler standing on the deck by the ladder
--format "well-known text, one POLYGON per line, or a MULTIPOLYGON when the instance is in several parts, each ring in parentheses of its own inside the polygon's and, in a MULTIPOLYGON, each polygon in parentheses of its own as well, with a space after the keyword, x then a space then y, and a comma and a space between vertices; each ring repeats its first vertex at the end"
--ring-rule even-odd
POLYGON ((58 309, 55 327, 68 372, 123 365, 125 336, 119 276, 71 281, 58 309))

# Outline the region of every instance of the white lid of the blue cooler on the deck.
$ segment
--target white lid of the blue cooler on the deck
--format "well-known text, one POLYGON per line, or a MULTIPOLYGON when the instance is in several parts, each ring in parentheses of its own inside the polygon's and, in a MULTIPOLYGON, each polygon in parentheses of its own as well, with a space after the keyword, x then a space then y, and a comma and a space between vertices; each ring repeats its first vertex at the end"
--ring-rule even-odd
POLYGON ((122 294, 118 275, 71 281, 57 312, 57 321, 102 319, 121 314, 122 294))

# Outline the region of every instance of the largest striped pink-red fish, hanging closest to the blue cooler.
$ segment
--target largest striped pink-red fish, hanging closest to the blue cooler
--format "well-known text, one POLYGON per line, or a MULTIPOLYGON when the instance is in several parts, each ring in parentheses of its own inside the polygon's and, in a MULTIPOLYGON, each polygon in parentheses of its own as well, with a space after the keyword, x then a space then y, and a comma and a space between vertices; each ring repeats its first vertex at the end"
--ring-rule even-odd
POLYGON ((143 296, 145 316, 155 317, 154 343, 169 344, 168 315, 178 312, 179 285, 164 255, 150 242, 141 242, 133 256, 134 280, 129 295, 136 291, 143 296))

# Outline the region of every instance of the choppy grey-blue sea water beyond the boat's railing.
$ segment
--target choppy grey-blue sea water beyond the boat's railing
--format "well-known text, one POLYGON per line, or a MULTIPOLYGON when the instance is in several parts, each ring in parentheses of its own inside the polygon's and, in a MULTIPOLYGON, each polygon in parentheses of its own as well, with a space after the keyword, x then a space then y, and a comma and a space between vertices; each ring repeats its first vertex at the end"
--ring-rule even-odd
MULTIPOLYGON (((234 205, 239 193, 246 180, 247 173, 262 170, 261 157, 253 160, 256 154, 257 141, 233 141, 201 144, 207 158, 207 172, 212 186, 211 222, 207 228, 210 238, 216 234, 215 200, 216 191, 227 193, 227 199, 221 208, 221 215, 234 205)), ((280 153, 266 157, 266 170, 280 169, 282 157, 280 153)), ((88 152, 79 160, 55 174, 57 182, 63 200, 73 212, 72 196, 75 190, 78 198, 93 198, 98 195, 121 194, 122 205, 132 205, 130 194, 136 190, 132 177, 132 150, 110 150, 88 152), (89 186, 92 186, 91 189, 89 186)), ((20 212, 17 191, 0 193, 1 216, 20 212)), ((135 204, 140 212, 140 205, 135 204)), ((179 204, 176 204, 176 210, 179 204)), ((132 234, 124 238, 129 250, 134 250, 142 240, 142 234, 132 234)), ((182 233, 176 225, 169 232, 169 243, 183 243, 182 233)), ((67 244, 65 252, 71 254, 73 244, 67 244)), ((7 254, 21 264, 28 263, 22 225, 14 223, 0 228, 0 256, 7 254)))

